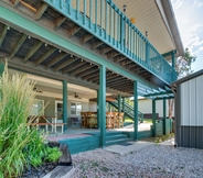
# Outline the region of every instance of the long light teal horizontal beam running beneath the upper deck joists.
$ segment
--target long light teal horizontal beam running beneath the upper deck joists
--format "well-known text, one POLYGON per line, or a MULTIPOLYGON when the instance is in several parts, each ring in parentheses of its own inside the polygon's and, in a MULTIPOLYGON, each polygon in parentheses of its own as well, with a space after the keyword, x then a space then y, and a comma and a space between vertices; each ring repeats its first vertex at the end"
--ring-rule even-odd
MULTIPOLYGON (((63 8, 63 10, 64 10, 64 8, 63 8)), ((139 84, 141 84, 143 86, 147 86, 147 87, 153 88, 153 89, 158 89, 158 87, 150 85, 149 82, 141 79, 139 76, 136 76, 135 74, 131 74, 131 73, 124 70, 122 67, 117 66, 117 65, 113 64, 111 62, 104 59, 103 57, 99 57, 98 55, 94 54, 92 51, 87 51, 83 47, 79 47, 75 43, 72 43, 68 40, 45 30, 44 27, 22 18, 21 15, 17 14, 17 13, 14 13, 14 12, 3 8, 3 7, 0 7, 0 16, 2 20, 6 20, 7 22, 19 26, 22 31, 31 32, 34 34, 34 36, 38 36, 39 38, 42 38, 45 41, 49 41, 50 43, 54 44, 55 46, 63 48, 67 53, 70 53, 70 51, 71 51, 74 54, 83 56, 84 58, 88 58, 93 63, 108 66, 109 69, 117 71, 118 74, 120 74, 127 78, 130 78, 132 80, 137 80, 139 84)))

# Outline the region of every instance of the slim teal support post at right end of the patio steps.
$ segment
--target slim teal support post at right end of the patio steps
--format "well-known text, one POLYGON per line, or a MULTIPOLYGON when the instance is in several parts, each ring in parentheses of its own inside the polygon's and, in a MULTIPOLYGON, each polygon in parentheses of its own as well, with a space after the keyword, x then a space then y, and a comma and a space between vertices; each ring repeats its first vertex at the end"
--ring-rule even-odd
POLYGON ((138 141, 138 84, 133 82, 133 140, 138 141))

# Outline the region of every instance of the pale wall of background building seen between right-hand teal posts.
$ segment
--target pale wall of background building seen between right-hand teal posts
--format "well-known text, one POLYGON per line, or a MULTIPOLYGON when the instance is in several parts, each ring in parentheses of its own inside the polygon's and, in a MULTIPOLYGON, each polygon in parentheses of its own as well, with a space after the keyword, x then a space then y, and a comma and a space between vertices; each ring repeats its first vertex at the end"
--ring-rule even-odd
MULTIPOLYGON (((140 99, 138 101, 138 110, 142 113, 152 113, 152 100, 140 99)), ((156 113, 159 113, 159 116, 163 116, 163 101, 156 101, 156 113)), ((169 115, 168 111, 168 100, 167 100, 167 116, 169 115)), ((173 116, 174 116, 174 104, 173 104, 173 116)))

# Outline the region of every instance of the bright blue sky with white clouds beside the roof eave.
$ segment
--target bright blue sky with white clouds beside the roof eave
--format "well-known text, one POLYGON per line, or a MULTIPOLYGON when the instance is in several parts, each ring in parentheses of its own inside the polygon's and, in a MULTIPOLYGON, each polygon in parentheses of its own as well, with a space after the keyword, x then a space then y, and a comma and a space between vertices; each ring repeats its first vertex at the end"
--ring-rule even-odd
POLYGON ((203 0, 171 0, 184 48, 196 62, 192 70, 203 69, 203 0))

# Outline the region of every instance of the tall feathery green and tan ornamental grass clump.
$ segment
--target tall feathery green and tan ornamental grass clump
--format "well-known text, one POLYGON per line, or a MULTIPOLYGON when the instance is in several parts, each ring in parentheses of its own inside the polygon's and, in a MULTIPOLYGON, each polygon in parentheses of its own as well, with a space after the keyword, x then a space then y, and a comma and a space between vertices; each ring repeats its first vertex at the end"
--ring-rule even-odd
MULTIPOLYGON (((28 167, 28 146, 43 148, 43 135, 28 129, 35 103, 34 81, 8 68, 0 77, 0 178, 18 177, 28 167)), ((40 151, 39 151, 40 152, 40 151)))

